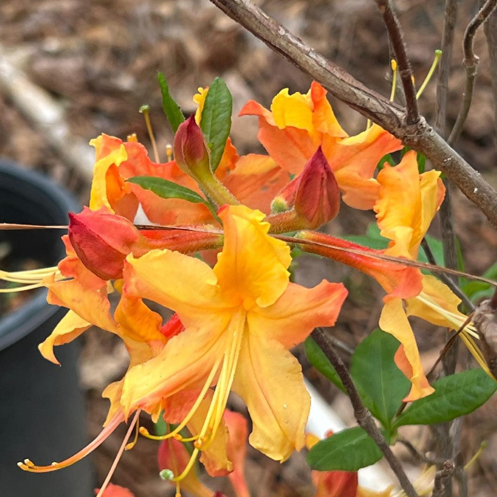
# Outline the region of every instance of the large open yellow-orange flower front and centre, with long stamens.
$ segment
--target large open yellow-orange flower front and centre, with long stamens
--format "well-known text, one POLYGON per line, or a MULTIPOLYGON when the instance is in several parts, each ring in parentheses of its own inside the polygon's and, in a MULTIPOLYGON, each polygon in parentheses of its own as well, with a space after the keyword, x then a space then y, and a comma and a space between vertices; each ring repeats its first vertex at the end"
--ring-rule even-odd
POLYGON ((169 250, 128 256, 123 292, 172 309, 186 329, 128 371, 121 405, 126 416, 156 414, 178 392, 197 391, 200 400, 215 386, 194 459, 215 436, 233 390, 252 418, 251 445, 283 461, 304 445, 309 414, 301 367, 288 348, 316 326, 333 325, 346 290, 290 283, 289 248, 267 235, 261 212, 229 206, 219 216, 225 241, 213 269, 169 250))

